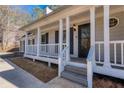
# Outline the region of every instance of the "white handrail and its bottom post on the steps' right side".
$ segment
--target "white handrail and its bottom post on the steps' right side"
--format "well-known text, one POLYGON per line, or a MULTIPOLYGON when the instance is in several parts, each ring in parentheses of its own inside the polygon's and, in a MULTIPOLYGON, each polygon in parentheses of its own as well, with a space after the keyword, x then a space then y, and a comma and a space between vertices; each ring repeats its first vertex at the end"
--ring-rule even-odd
POLYGON ((87 81, 89 88, 92 88, 92 82, 93 82, 92 61, 94 57, 94 52, 95 52, 95 46, 91 46, 87 56, 87 81))

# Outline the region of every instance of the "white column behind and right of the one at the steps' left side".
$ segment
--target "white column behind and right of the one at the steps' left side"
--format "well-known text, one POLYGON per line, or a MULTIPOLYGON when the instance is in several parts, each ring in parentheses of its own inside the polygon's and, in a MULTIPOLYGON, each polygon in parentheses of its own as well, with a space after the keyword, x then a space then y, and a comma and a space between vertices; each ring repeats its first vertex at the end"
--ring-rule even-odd
POLYGON ((66 57, 67 62, 70 60, 70 17, 66 17, 66 45, 68 47, 66 57))

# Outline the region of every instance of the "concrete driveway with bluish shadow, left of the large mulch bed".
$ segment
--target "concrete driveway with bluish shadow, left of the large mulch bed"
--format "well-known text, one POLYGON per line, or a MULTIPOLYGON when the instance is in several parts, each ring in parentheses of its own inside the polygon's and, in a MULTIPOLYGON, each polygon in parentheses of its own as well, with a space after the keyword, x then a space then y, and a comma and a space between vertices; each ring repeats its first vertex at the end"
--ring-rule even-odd
POLYGON ((0 88, 46 88, 47 85, 8 60, 0 58, 0 88))

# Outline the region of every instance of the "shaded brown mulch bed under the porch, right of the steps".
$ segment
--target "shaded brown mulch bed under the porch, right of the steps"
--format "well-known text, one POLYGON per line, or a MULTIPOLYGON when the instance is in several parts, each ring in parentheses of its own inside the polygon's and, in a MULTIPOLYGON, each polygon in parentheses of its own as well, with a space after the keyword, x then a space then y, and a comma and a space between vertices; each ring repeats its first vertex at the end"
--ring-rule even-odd
POLYGON ((93 86, 94 88, 124 88, 124 80, 95 74, 93 86))

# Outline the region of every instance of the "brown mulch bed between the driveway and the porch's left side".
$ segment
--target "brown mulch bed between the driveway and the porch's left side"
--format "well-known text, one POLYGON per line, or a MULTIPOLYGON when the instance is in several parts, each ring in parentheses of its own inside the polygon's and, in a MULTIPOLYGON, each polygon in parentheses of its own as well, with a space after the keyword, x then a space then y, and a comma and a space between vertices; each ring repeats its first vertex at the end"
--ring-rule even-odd
POLYGON ((48 67, 47 62, 33 62, 31 59, 22 57, 11 58, 10 60, 43 82, 48 82, 57 76, 56 65, 52 64, 52 67, 48 67))

